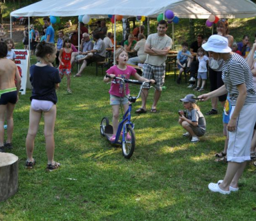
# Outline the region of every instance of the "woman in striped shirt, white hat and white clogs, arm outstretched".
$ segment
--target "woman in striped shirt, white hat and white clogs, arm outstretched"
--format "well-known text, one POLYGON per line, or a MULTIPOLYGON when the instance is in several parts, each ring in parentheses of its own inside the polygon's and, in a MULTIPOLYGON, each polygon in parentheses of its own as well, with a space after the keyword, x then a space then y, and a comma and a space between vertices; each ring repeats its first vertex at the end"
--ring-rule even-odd
POLYGON ((250 160, 250 142, 256 121, 256 95, 253 86, 253 75, 243 57, 231 52, 228 39, 212 35, 203 49, 212 55, 215 61, 223 59, 222 79, 224 85, 208 94, 199 96, 208 100, 229 93, 232 111, 228 123, 228 168, 224 180, 210 183, 210 191, 230 194, 238 191, 238 180, 241 177, 246 161, 250 160))

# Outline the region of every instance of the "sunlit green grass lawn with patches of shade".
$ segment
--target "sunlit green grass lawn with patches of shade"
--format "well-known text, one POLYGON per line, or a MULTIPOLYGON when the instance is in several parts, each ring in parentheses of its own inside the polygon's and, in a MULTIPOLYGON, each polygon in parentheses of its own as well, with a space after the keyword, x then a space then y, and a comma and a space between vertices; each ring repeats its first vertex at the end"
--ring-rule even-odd
MULTIPOLYGON (((62 166, 51 173, 45 171, 43 121, 35 140, 37 164, 25 169, 31 92, 20 96, 12 150, 19 156, 19 190, 0 203, 0 220, 255 220, 256 168, 251 163, 237 193, 208 190, 209 182, 223 179, 227 166, 214 162, 225 140, 220 106, 218 115, 205 116, 205 136, 191 144, 177 121, 183 108, 179 99, 192 90, 184 80, 177 86, 168 73, 158 113, 136 115, 140 99, 134 104, 136 148, 126 160, 120 147, 100 135, 102 117, 111 119, 109 84, 102 79, 101 71, 95 76, 95 66, 89 66, 83 77, 71 79, 72 95, 66 94, 66 78, 57 90, 55 160, 62 166)), ((131 86, 131 95, 137 93, 138 87, 131 86)), ((199 106, 202 113, 210 110, 210 102, 199 106)))

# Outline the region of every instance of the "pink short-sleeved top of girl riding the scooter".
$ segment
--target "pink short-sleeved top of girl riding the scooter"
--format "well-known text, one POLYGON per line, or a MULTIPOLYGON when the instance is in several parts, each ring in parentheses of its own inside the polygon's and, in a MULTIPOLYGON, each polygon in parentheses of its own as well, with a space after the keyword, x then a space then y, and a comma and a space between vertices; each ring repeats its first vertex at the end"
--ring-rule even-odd
MULTIPOLYGON (((120 70, 118 68, 118 66, 115 65, 115 66, 112 66, 111 68, 109 68, 109 70, 107 70, 106 72, 109 75, 116 75, 116 77, 129 79, 131 77, 131 75, 133 75, 133 76, 135 75, 136 70, 135 70, 135 68, 133 68, 131 66, 126 66, 126 70, 120 70)), ((128 86, 128 84, 125 84, 125 86, 126 86, 126 88, 125 88, 126 95, 129 95, 129 93, 130 93, 129 86, 128 86)), ((111 83, 109 94, 115 95, 117 97, 125 97, 123 84, 111 83)))

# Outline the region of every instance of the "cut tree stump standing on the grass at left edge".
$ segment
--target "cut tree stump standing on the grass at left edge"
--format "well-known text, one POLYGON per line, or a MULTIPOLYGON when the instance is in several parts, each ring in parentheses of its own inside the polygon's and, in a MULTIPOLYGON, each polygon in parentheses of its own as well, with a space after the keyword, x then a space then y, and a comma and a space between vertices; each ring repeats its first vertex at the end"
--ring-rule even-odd
POLYGON ((0 153, 0 202, 17 192, 18 159, 12 153, 0 153))

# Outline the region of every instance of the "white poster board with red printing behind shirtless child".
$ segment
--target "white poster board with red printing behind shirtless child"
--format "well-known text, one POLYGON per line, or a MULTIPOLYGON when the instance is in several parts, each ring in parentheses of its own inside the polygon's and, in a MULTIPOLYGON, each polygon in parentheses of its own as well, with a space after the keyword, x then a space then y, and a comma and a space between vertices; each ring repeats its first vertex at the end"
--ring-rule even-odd
POLYGON ((18 67, 19 75, 21 75, 21 95, 26 95, 26 88, 32 89, 29 80, 30 57, 28 50, 14 49, 15 51, 15 64, 18 67))

